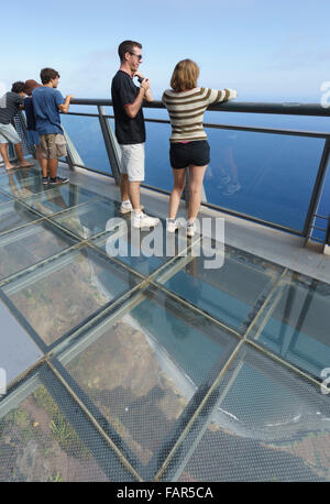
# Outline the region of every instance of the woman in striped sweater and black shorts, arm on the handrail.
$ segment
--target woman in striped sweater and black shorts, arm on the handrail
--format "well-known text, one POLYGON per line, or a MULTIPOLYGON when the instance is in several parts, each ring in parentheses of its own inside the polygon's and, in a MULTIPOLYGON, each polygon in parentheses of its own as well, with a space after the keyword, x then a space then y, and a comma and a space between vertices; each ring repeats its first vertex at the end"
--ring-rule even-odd
POLYGON ((187 235, 196 231, 195 220, 200 207, 204 175, 210 161, 210 147, 202 128, 204 112, 211 103, 237 98, 231 89, 215 90, 197 87, 199 68, 191 59, 179 62, 162 101, 168 110, 172 135, 169 138, 169 161, 173 168, 174 187, 169 197, 167 231, 174 232, 179 223, 176 212, 186 184, 186 168, 189 167, 189 208, 187 235))

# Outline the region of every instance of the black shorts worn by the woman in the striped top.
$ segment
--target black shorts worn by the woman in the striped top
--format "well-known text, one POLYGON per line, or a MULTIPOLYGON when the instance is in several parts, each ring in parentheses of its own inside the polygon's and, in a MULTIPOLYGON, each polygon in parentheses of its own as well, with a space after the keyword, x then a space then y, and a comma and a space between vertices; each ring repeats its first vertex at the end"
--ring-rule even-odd
POLYGON ((186 168, 190 164, 205 166, 210 162, 210 146, 207 140, 194 140, 188 143, 170 143, 170 166, 175 169, 186 168))

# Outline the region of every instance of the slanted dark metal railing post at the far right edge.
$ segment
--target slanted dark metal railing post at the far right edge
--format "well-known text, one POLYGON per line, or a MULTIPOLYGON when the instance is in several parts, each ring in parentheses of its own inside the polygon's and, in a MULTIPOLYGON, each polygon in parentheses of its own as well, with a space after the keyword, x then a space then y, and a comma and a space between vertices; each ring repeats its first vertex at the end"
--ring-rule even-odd
POLYGON ((324 182, 326 174, 327 174, 329 156, 330 156, 330 139, 327 139, 324 143, 323 152, 322 152, 322 157, 319 164, 317 178, 314 185, 307 217, 306 217, 305 224, 304 224, 304 231, 302 231, 304 237, 305 237, 304 246, 306 246, 308 239, 310 238, 310 232, 315 223, 315 219, 316 219, 315 216, 316 216, 316 212, 317 212, 317 209, 320 202, 320 198, 322 195, 322 187, 323 187, 323 182, 324 182))

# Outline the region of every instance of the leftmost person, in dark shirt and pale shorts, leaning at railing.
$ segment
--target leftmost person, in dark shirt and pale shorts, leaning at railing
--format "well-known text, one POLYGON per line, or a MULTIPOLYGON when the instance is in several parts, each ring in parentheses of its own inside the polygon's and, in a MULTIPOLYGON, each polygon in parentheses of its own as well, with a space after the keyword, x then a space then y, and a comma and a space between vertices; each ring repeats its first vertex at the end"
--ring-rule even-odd
POLYGON ((25 97, 25 85, 22 81, 14 83, 11 91, 6 92, 0 98, 0 154, 4 162, 6 169, 15 167, 33 166, 34 163, 24 160, 22 141, 12 125, 12 120, 18 111, 23 106, 23 99, 25 97), (8 142, 11 142, 19 157, 19 165, 14 166, 10 163, 8 157, 8 142))

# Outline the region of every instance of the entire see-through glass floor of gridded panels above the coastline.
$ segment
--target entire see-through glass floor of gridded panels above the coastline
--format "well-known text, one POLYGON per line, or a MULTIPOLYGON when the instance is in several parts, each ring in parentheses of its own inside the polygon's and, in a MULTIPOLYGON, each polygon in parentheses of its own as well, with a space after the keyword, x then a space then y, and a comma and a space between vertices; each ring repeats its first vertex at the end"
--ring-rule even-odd
POLYGON ((164 226, 134 242, 130 217, 116 255, 117 201, 73 184, 25 198, 30 169, 6 202, 9 178, 1 481, 330 481, 328 284, 230 246, 208 269, 199 237, 157 255, 164 226))

